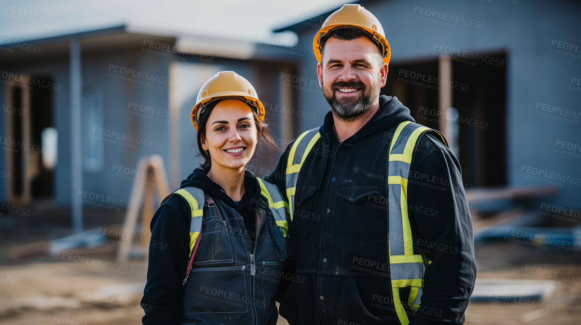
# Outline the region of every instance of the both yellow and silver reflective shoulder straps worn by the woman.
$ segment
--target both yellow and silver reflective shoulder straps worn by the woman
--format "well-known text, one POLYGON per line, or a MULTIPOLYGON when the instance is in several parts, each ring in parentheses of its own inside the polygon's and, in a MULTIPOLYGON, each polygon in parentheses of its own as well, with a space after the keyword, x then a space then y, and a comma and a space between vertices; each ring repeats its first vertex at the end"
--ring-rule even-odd
MULTIPOLYGON (((286 220, 286 211, 285 208, 288 208, 288 203, 282 198, 281 193, 278 191, 277 185, 270 184, 269 182, 265 182, 261 180, 261 178, 256 178, 260 184, 260 193, 263 195, 268 201, 268 209, 272 212, 272 216, 274 216, 274 220, 277 222, 277 226, 281 227, 282 233, 284 236, 287 236, 288 231, 288 220, 286 220)), ((193 257, 196 254, 196 250, 198 250, 198 243, 199 238, 202 236, 202 219, 203 219, 203 212, 204 212, 204 204, 206 203, 206 195, 202 189, 196 187, 184 187, 177 189, 173 193, 167 196, 163 202, 166 202, 168 198, 172 195, 181 196, 186 202, 192 211, 191 213, 191 224, 189 226, 189 264, 187 273, 192 267, 193 257)), ((162 202, 162 204, 163 204, 162 202)), ((185 283, 184 279, 184 283, 185 283)))

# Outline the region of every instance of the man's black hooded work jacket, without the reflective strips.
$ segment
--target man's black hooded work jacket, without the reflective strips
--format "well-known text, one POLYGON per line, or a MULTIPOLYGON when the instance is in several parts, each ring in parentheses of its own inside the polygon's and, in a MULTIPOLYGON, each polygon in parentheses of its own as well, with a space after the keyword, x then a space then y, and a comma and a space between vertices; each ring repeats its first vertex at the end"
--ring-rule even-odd
MULTIPOLYGON (((397 124, 415 121, 396 97, 381 96, 379 105, 340 144, 328 112, 321 140, 300 170, 289 226, 289 260, 295 262, 288 261, 286 271, 305 280, 281 284, 279 300, 291 325, 398 324, 386 244, 386 209, 397 202, 386 195, 386 161, 397 124)), ((265 178, 283 193, 292 144, 265 178)), ((410 324, 461 324, 476 275, 472 221, 460 164, 432 135, 418 142, 407 199, 414 252, 433 260, 424 275, 421 309, 410 324)))

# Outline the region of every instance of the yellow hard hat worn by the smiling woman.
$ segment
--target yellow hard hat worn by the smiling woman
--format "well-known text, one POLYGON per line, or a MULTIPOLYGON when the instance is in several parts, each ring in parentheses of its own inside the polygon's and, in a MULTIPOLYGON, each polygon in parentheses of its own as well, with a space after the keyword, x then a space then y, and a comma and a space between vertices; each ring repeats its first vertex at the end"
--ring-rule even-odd
POLYGON ((220 71, 210 78, 198 93, 196 105, 192 108, 191 120, 198 131, 198 120, 204 108, 215 100, 238 98, 256 109, 259 120, 264 119, 264 105, 260 103, 252 84, 234 71, 220 71))

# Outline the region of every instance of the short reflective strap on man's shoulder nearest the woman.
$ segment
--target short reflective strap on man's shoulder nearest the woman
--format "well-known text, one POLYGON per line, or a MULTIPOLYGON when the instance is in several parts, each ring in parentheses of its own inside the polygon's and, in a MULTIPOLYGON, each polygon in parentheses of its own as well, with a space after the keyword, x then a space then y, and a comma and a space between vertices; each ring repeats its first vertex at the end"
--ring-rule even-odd
POLYGON ((319 133, 319 128, 317 127, 303 132, 303 134, 296 138, 292 147, 290 147, 285 175, 286 198, 289 200, 290 221, 292 221, 292 208, 295 204, 296 182, 299 177, 300 167, 303 166, 304 159, 307 158, 307 155, 309 155, 309 152, 313 149, 313 146, 319 138, 321 138, 321 133, 319 133))

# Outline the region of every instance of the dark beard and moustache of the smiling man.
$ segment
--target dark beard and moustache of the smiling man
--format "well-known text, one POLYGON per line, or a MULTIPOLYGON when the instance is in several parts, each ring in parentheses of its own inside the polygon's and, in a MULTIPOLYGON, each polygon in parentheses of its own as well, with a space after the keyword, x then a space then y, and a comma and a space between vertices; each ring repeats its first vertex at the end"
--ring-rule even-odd
POLYGON ((325 89, 324 83, 321 83, 323 89, 323 95, 331 106, 331 111, 333 114, 338 116, 339 119, 345 122, 352 122, 356 120, 361 114, 367 112, 371 105, 373 105, 372 96, 379 96, 379 91, 375 84, 371 85, 370 92, 365 92, 367 87, 365 87, 363 82, 360 81, 338 81, 333 83, 331 89, 325 89), (361 95, 354 98, 342 98, 339 100, 336 96, 335 90, 337 88, 360 88, 361 95), (330 91, 330 92, 329 92, 330 91))

